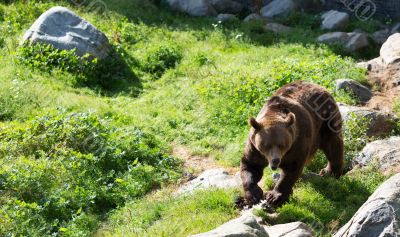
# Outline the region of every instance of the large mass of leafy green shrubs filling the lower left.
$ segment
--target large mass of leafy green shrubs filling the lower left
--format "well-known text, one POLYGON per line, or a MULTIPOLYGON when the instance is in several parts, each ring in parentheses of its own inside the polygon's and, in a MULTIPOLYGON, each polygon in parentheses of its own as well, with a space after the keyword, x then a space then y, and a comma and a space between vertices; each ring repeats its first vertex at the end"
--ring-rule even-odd
POLYGON ((154 137, 93 113, 11 123, 0 141, 1 236, 90 235, 102 214, 180 176, 154 137))

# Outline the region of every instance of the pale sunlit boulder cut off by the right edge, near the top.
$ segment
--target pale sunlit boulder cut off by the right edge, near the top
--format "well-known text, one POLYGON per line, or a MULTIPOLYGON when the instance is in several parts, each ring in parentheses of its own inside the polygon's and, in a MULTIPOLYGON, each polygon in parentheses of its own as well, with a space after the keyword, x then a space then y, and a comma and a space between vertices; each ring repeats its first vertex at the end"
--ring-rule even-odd
POLYGON ((382 45, 381 59, 385 65, 397 63, 400 60, 400 33, 391 35, 382 45))

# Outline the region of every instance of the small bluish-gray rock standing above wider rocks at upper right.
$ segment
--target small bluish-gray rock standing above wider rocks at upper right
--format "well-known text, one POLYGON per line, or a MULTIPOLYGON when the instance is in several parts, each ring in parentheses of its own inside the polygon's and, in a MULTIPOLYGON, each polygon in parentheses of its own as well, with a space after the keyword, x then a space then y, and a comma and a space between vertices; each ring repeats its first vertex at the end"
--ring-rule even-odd
POLYGON ((346 12, 331 10, 322 15, 323 30, 344 30, 350 21, 350 16, 346 12))

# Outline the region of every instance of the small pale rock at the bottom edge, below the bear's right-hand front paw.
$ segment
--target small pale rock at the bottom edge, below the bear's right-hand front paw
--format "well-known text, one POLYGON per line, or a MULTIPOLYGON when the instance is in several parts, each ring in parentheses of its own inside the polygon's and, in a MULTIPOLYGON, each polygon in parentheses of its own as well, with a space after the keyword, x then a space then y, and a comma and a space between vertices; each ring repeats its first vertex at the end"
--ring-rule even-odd
POLYGON ((312 237, 312 230, 302 222, 292 222, 265 228, 270 237, 312 237))

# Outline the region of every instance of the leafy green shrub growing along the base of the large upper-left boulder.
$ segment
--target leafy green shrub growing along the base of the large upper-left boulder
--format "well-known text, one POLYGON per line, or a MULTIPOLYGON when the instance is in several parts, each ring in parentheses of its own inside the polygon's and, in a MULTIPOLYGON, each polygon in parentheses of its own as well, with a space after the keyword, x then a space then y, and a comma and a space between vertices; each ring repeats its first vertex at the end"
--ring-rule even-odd
MULTIPOLYGON (((17 62, 32 70, 51 73, 71 73, 72 84, 100 88, 107 91, 128 90, 134 95, 140 91, 138 79, 128 67, 121 47, 112 47, 104 59, 91 59, 73 50, 60 50, 49 44, 24 44, 19 48, 17 62)), ((132 61, 132 60, 131 60, 132 61)))

